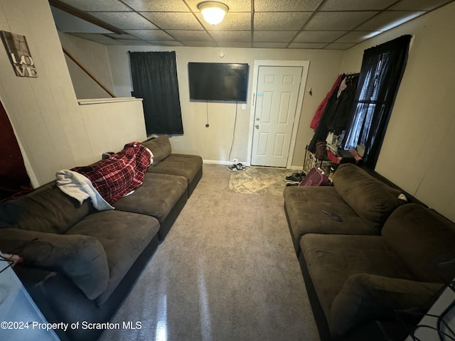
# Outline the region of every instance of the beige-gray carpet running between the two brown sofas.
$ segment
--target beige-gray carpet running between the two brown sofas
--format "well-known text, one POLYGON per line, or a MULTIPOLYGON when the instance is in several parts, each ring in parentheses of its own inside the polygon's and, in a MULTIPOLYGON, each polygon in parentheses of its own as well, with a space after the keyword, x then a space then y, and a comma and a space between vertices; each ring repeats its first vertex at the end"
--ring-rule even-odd
POLYGON ((233 193, 204 175, 101 340, 319 340, 283 197, 233 193))

